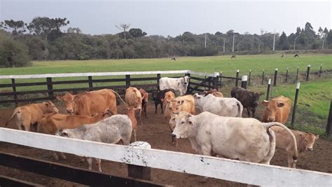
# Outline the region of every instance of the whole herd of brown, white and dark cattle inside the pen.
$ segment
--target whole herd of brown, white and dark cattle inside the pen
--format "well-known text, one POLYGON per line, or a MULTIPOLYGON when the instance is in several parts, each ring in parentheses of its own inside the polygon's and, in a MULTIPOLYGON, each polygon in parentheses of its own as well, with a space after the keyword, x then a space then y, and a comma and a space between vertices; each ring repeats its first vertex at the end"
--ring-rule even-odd
MULTIPOLYGON (((155 113, 160 104, 165 123, 170 127, 172 144, 177 139, 188 138, 195 151, 202 155, 270 164, 275 148, 284 149, 288 156, 288 167, 296 167, 298 153, 312 151, 318 135, 289 130, 284 123, 291 110, 289 98, 279 96, 264 100, 261 121, 256 120, 255 111, 260 94, 243 88, 233 88, 231 98, 223 97, 218 90, 205 91, 199 95, 185 95, 190 78, 160 78, 159 89, 151 96, 155 113), (179 91, 180 96, 175 97, 179 91), (242 118, 243 109, 251 111, 252 118, 242 118)), ((67 113, 61 114, 50 101, 20 106, 13 111, 9 121, 15 119, 20 130, 55 134, 62 137, 100 141, 109 144, 118 142, 128 145, 136 141, 137 123, 142 124, 141 113, 146 116, 148 92, 129 87, 125 90, 125 101, 110 89, 58 95, 66 105, 67 113), (125 104, 125 114, 118 114, 116 96, 125 104), (111 115, 109 115, 111 113, 111 115)), ((59 160, 57 153, 53 153, 59 160)), ((66 159, 63 153, 60 156, 66 159)), ((97 160, 101 172, 100 160, 97 160)), ((88 158, 92 169, 92 158, 88 158)))

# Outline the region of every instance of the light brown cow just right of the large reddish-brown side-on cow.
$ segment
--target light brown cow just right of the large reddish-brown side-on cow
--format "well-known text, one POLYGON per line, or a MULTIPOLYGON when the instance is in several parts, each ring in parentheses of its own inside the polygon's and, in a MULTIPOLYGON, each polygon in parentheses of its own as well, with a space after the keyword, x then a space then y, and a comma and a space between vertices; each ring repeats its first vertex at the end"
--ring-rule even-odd
POLYGON ((142 102, 141 92, 137 88, 129 87, 125 90, 125 102, 127 107, 133 106, 135 111, 138 111, 139 124, 141 125, 141 102, 142 102))

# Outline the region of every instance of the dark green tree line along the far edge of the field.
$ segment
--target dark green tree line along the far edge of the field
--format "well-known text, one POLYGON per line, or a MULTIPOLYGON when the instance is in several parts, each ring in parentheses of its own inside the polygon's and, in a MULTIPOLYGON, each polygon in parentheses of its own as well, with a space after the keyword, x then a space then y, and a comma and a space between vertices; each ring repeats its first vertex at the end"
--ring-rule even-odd
POLYGON ((30 60, 130 59, 170 56, 209 56, 228 53, 264 53, 275 50, 332 48, 332 30, 319 27, 315 32, 310 22, 286 36, 265 32, 226 33, 179 36, 146 36, 146 32, 130 25, 115 25, 118 34, 83 34, 77 27, 62 32, 67 18, 37 17, 32 22, 4 20, 0 25, 0 67, 24 67, 30 60), (233 47, 233 38, 235 38, 233 47))

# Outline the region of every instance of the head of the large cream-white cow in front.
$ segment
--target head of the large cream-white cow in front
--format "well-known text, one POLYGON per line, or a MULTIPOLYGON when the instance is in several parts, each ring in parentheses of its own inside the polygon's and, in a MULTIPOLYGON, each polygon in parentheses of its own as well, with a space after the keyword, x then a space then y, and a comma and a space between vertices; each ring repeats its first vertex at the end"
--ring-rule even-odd
POLYGON ((193 136, 194 116, 186 111, 181 111, 178 115, 170 119, 171 124, 175 124, 172 137, 188 138, 193 136))

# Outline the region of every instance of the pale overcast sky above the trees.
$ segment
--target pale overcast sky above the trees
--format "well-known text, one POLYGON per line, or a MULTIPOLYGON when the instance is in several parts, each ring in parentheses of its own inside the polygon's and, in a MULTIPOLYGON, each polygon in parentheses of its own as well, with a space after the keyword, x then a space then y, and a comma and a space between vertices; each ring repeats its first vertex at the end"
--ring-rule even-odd
MULTIPOLYGON (((296 32, 310 22, 331 29, 331 1, 16 1, 0 0, 0 21, 67 18, 85 34, 116 34, 130 24, 148 35, 227 32, 296 32)), ((66 28, 67 28, 66 27, 66 28)), ((64 29, 62 29, 64 30, 64 29)))

